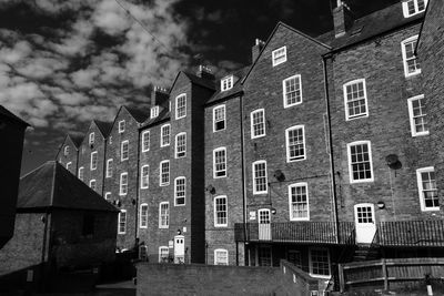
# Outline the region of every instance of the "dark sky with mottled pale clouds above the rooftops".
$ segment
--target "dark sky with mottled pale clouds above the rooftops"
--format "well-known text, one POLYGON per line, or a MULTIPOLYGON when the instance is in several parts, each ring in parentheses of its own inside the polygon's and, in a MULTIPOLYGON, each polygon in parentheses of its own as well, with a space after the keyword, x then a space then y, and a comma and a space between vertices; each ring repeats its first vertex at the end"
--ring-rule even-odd
MULTIPOLYGON (((112 121, 122 104, 149 106, 151 88, 181 70, 220 76, 250 64, 278 21, 332 30, 329 1, 0 0, 0 104, 32 125, 22 174, 54 160, 68 132, 112 121)), ((398 1, 347 3, 359 18, 398 1)))

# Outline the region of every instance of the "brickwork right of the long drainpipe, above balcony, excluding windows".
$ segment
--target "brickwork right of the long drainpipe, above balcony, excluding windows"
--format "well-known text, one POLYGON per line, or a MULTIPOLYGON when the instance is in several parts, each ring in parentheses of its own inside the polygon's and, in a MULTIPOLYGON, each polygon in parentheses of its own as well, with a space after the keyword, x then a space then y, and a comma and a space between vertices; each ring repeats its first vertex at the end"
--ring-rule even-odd
POLYGON ((384 202, 376 221, 430 217, 422 212, 416 170, 433 165, 430 136, 412 137, 407 99, 423 93, 422 75, 404 76, 401 42, 418 33, 420 25, 380 37, 333 58, 332 135, 336 169, 340 220, 353 221, 357 203, 384 202), (343 84, 365 79, 369 116, 346 121, 343 84), (346 144, 371 141, 374 182, 351 184, 346 144), (391 170, 385 161, 396 154, 402 167, 391 170), (432 156, 432 157, 431 157, 432 156))

